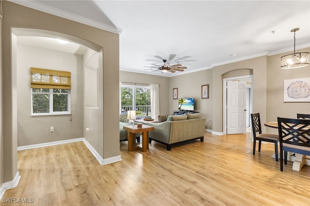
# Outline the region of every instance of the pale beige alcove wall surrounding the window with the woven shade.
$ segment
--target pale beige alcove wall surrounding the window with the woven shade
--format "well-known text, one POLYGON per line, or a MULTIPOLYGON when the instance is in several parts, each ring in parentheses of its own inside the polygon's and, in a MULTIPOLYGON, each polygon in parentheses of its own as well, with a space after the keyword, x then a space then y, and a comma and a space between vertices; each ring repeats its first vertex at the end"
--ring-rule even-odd
POLYGON ((83 137, 82 56, 18 44, 17 146, 83 137), (32 116, 30 67, 71 72, 71 114, 32 116), (50 127, 54 132, 50 132, 50 127))

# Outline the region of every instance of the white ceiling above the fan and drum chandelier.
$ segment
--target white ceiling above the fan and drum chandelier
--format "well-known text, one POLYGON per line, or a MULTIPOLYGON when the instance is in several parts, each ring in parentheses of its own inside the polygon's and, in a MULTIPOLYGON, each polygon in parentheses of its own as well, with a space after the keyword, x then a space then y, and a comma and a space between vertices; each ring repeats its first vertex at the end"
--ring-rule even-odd
POLYGON ((292 51, 290 30, 297 27, 296 49, 310 46, 309 0, 12 1, 111 32, 122 31, 122 71, 173 76, 292 51), (154 56, 169 59, 171 54, 174 59, 188 56, 179 61, 187 67, 185 72, 145 70, 144 66, 161 63, 154 56))

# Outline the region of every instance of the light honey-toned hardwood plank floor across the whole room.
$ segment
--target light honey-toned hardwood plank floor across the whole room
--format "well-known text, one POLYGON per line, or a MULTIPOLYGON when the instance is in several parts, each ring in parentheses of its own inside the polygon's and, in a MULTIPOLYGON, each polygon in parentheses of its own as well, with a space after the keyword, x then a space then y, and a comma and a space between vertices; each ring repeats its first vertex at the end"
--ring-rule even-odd
MULTIPOLYGON (((18 151, 21 179, 3 198, 33 198, 36 206, 309 206, 310 166, 292 170, 271 158, 273 144, 252 155, 245 134, 212 135, 179 147, 152 142, 100 165, 83 142, 18 151)), ((3 200, 3 199, 2 199, 3 200)), ((0 205, 18 205, 1 202, 0 205)))

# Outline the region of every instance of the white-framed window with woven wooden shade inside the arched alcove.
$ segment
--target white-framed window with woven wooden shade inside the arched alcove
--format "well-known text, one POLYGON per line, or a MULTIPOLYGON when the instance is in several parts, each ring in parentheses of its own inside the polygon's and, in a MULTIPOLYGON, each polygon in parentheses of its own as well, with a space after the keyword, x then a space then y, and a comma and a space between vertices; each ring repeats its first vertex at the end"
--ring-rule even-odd
POLYGON ((71 73, 31 68, 31 115, 71 113, 71 73))

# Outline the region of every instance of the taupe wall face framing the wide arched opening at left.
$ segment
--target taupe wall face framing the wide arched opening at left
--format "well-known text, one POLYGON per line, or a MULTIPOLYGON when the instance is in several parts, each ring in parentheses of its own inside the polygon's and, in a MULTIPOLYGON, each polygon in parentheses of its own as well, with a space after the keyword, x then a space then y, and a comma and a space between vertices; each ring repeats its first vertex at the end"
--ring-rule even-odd
MULTIPOLYGON (((11 1, 2 1, 2 63, 3 63, 3 182, 12 181, 17 173, 17 148, 13 147, 17 137, 13 136, 13 99, 12 96, 12 28, 42 29, 51 32, 63 33, 85 40, 92 45, 102 48, 103 59, 100 59, 99 66, 103 68, 100 92, 103 101, 99 104, 102 111, 102 135, 99 135, 102 142, 98 154, 103 159, 117 157, 119 149, 119 35, 97 29, 85 24, 64 19, 37 11, 11 1), (112 101, 111 101, 112 100, 112 101)), ((87 44, 87 43, 86 43, 87 44)), ((16 140, 17 141, 17 140, 16 140)), ((99 141, 99 142, 100 142, 99 141)))

